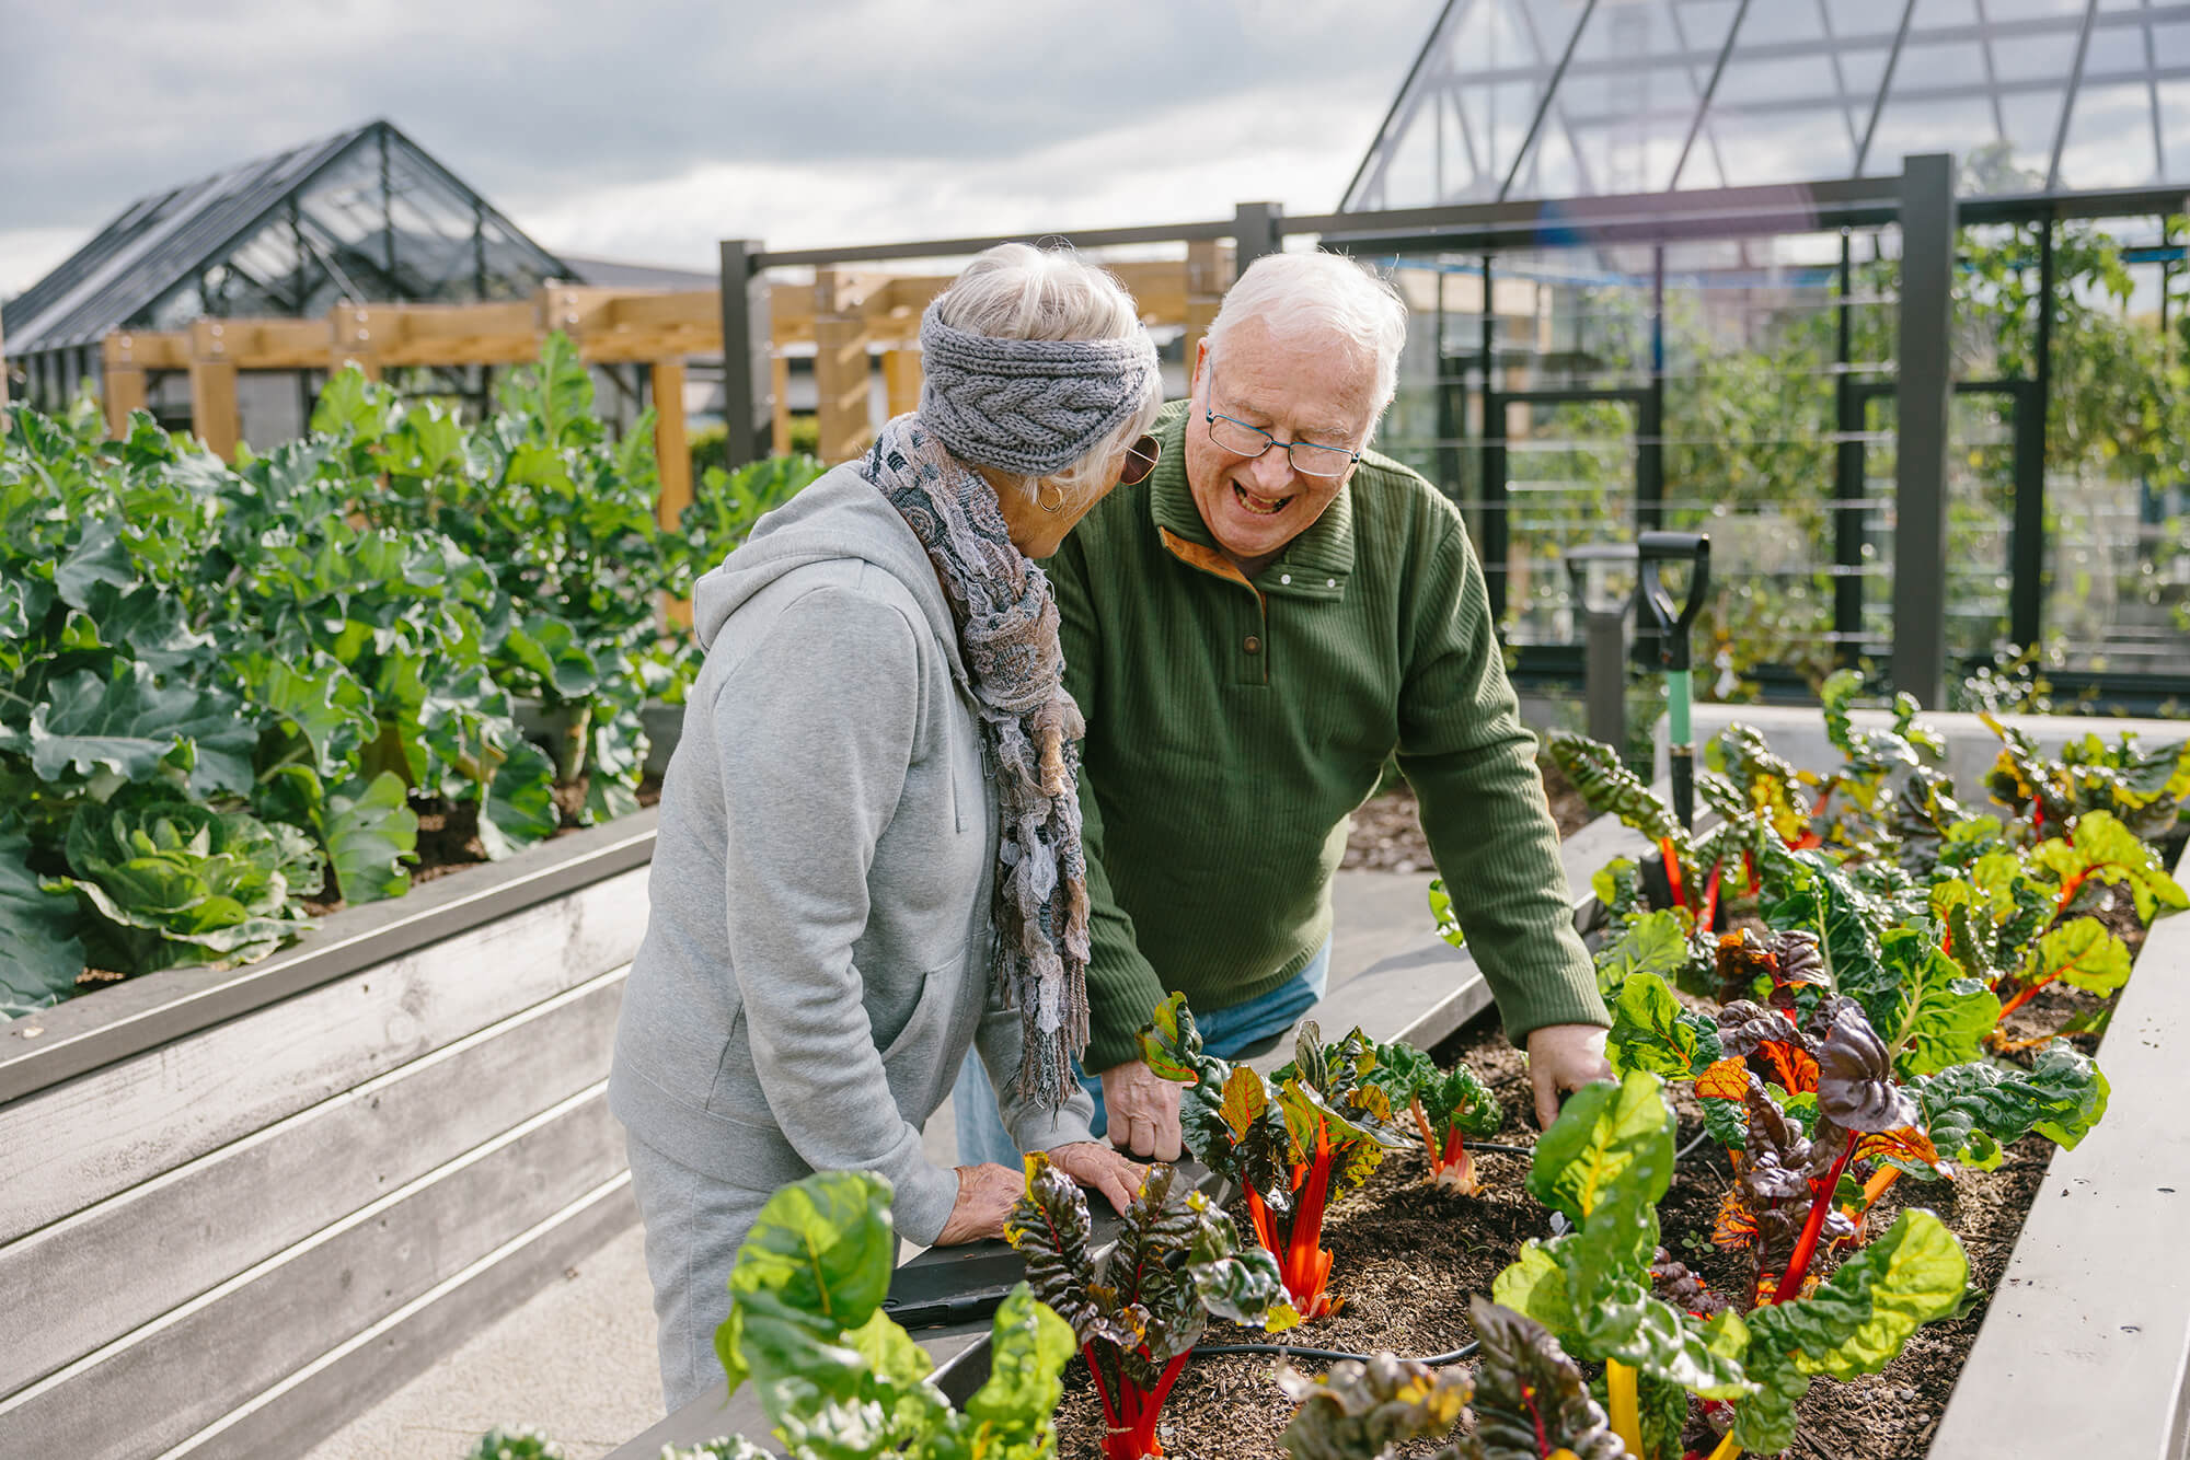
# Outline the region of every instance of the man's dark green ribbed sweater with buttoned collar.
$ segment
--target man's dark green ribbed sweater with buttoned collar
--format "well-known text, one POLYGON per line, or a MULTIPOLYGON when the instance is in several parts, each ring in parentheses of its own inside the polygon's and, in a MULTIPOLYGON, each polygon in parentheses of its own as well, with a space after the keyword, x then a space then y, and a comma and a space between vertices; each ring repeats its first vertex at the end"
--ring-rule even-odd
POLYGON ((1156 471, 1047 565, 1088 722, 1084 1066, 1134 1059, 1174 989, 1222 1009, 1307 965, 1393 749, 1507 1033, 1607 1024, 1459 510, 1371 451, 1250 584, 1194 506, 1185 427, 1172 405, 1156 471))

